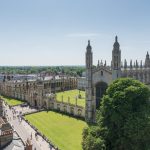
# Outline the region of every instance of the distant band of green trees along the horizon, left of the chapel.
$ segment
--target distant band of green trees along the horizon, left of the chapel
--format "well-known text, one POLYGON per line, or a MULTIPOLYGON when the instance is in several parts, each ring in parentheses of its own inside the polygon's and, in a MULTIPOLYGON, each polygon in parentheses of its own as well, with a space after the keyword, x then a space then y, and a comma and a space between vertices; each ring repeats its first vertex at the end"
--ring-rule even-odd
POLYGON ((82 76, 84 66, 0 66, 0 73, 4 74, 37 74, 82 76))

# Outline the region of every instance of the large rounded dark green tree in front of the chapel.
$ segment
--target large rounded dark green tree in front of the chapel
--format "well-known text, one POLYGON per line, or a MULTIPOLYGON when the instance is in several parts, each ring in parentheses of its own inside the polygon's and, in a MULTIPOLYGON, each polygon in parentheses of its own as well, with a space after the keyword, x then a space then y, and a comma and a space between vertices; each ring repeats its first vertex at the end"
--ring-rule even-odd
MULTIPOLYGON (((97 127, 105 129, 105 134, 100 138, 105 141, 106 149, 148 150, 150 148, 149 98, 149 88, 134 79, 118 79, 108 87, 97 113, 97 127)), ((93 129, 90 127, 88 130, 93 129)), ((88 136, 91 134, 85 135, 88 136)), ((87 143, 87 140, 83 142, 83 149, 88 150, 84 148, 84 143, 87 143)))

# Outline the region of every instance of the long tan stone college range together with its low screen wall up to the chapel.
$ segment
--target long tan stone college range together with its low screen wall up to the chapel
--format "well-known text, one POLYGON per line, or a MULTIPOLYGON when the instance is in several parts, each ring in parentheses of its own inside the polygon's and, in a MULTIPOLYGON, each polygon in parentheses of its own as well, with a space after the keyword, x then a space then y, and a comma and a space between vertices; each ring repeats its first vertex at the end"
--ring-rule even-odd
POLYGON ((65 112, 74 116, 84 117, 85 108, 68 102, 57 101, 55 92, 77 89, 75 77, 52 77, 44 80, 5 80, 0 83, 2 95, 28 102, 36 108, 45 108, 65 112))

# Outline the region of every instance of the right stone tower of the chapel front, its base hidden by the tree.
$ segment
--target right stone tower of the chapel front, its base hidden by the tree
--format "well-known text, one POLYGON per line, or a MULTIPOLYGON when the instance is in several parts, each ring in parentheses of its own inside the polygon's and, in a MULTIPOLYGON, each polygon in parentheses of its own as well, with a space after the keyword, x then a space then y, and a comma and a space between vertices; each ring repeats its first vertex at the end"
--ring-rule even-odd
POLYGON ((121 50, 116 36, 112 50, 112 80, 119 77, 121 77, 121 50))

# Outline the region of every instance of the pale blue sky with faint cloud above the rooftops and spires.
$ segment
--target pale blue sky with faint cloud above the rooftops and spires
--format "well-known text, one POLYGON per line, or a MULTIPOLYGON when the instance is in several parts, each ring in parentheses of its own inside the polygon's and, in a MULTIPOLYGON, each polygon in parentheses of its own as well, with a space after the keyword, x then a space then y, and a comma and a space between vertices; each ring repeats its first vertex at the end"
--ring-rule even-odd
POLYGON ((84 65, 111 61, 115 35, 122 60, 150 52, 149 0, 0 0, 0 65, 84 65))

